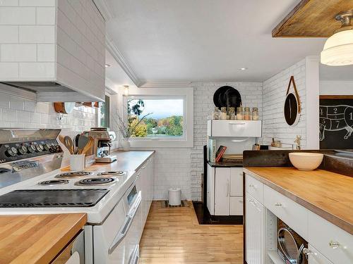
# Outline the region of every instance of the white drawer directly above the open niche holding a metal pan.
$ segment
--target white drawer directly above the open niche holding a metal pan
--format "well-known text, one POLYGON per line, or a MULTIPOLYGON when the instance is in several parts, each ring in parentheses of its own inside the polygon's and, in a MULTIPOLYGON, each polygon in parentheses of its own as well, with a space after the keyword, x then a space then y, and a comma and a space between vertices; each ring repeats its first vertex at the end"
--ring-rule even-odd
POLYGON ((308 211, 278 191, 265 185, 263 205, 304 239, 308 238, 308 211))

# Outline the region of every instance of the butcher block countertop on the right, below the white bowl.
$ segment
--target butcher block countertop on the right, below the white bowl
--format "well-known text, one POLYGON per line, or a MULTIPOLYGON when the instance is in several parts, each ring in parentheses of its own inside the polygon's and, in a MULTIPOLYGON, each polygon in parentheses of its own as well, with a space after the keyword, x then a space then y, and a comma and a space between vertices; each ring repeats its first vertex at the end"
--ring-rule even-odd
POLYGON ((353 177, 327 170, 244 168, 301 206, 353 234, 353 177))

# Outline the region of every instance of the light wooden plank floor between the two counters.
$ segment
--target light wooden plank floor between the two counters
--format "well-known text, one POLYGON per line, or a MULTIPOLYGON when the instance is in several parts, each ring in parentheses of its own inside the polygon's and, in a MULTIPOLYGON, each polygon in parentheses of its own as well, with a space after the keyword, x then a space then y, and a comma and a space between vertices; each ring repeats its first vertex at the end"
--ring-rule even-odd
POLYGON ((198 225, 192 206, 152 203, 140 241, 140 263, 243 263, 242 225, 198 225))

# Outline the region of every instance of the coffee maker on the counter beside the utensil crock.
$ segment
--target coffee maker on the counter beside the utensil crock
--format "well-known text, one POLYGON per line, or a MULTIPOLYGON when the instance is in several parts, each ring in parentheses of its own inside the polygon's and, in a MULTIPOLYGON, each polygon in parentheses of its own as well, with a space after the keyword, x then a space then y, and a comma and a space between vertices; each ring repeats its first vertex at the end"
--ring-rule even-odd
POLYGON ((92 127, 90 131, 85 131, 86 136, 95 139, 93 153, 96 163, 112 163, 116 161, 116 156, 110 155, 112 141, 116 139, 114 131, 108 131, 105 127, 92 127))

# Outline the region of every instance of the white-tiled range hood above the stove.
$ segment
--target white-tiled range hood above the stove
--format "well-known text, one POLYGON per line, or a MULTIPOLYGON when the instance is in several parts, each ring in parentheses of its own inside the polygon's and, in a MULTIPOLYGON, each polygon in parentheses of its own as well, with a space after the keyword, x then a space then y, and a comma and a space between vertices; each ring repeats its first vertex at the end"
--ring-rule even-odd
POLYGON ((37 101, 104 101, 105 25, 92 0, 19 1, 0 15, 0 82, 37 101))

